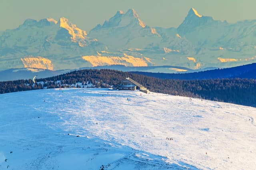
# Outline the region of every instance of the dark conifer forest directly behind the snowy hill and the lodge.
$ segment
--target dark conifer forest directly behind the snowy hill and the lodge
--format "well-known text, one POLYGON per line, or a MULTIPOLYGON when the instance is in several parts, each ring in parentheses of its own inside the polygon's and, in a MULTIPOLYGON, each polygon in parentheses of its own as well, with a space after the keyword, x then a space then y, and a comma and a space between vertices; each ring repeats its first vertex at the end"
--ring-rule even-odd
POLYGON ((0 94, 44 88, 80 88, 74 85, 78 82, 83 83, 82 87, 88 82, 94 84, 96 88, 108 88, 126 77, 136 80, 151 92, 256 107, 255 79, 171 80, 109 69, 72 71, 54 77, 38 78, 36 84, 31 79, 0 82, 0 94))

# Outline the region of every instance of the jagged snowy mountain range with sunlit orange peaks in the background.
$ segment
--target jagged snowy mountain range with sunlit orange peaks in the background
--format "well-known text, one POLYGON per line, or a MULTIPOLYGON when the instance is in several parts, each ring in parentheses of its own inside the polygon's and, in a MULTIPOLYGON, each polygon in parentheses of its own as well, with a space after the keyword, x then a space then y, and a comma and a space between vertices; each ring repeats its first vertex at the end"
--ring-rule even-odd
POLYGON ((16 29, 0 32, 0 70, 116 64, 238 66, 256 61, 255 33, 256 20, 217 21, 194 8, 178 28, 167 29, 146 25, 133 9, 118 11, 90 31, 66 18, 28 19, 16 29))

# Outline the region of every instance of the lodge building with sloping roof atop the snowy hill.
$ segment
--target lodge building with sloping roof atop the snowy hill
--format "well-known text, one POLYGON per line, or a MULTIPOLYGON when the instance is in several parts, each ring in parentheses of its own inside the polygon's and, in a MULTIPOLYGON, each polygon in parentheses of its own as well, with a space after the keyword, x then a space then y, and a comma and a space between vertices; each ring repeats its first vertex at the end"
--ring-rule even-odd
POLYGON ((140 90, 141 92, 148 93, 149 90, 132 80, 130 77, 123 79, 122 81, 118 82, 118 84, 113 86, 113 90, 140 90))

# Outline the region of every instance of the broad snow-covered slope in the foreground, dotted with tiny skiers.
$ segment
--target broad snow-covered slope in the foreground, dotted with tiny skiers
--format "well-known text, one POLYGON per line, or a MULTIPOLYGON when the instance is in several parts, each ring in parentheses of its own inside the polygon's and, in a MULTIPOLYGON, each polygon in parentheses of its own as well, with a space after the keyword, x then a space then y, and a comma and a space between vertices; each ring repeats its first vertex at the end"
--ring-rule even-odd
POLYGON ((256 169, 254 107, 62 90, 0 95, 1 170, 256 169))

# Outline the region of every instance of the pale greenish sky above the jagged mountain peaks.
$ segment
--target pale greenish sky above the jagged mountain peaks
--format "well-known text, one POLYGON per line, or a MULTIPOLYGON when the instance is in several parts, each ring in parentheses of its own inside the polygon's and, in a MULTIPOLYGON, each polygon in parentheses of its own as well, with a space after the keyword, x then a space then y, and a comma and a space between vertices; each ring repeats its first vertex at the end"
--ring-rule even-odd
POLYGON ((255 6, 255 0, 0 0, 0 31, 16 28, 28 18, 65 17, 89 32, 118 10, 130 8, 152 27, 178 27, 192 7, 202 16, 234 23, 256 19, 255 6))

